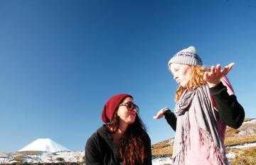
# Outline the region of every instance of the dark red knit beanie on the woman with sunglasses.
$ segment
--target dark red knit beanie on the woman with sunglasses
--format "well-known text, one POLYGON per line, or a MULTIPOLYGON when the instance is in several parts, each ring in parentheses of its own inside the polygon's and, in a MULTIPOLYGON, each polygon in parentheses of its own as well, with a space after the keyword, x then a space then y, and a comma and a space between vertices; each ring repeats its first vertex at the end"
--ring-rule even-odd
POLYGON ((124 100, 125 97, 131 97, 129 94, 121 93, 112 96, 106 103, 105 106, 103 107, 102 110, 102 121, 104 123, 110 123, 112 120, 112 117, 114 115, 114 111, 118 108, 119 103, 124 100))

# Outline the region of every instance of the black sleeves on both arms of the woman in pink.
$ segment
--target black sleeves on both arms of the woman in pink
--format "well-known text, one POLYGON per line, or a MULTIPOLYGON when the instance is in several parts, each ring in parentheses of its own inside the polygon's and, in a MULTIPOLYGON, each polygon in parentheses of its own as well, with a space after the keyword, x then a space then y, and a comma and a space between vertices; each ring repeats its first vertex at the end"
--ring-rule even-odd
MULTIPOLYGON (((220 120, 223 120, 225 125, 238 129, 245 119, 245 111, 238 103, 235 95, 229 95, 227 87, 222 82, 213 88, 210 88, 214 101, 216 103, 220 120)), ((167 123, 176 131, 177 118, 171 110, 164 112, 167 123)))

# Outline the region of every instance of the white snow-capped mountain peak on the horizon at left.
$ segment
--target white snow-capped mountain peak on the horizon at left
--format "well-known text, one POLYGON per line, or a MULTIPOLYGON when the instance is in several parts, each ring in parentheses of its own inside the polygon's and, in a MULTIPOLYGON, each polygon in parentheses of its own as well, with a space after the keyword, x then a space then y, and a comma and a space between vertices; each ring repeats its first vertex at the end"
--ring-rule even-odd
POLYGON ((54 142, 53 140, 46 138, 46 139, 38 139, 31 144, 28 144, 26 147, 18 150, 18 152, 27 152, 27 151, 40 151, 40 152, 63 152, 63 151, 70 151, 66 147, 54 142))

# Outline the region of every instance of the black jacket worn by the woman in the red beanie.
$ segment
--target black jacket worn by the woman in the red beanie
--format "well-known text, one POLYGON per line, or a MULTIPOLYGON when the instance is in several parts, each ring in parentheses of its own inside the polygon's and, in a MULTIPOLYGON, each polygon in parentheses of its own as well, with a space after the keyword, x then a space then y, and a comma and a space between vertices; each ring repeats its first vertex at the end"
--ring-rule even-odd
MULTIPOLYGON (((151 165, 151 142, 149 135, 146 134, 146 159, 145 165, 151 165)), ((85 146, 86 165, 119 165, 119 155, 114 141, 104 126, 87 140, 85 146)))

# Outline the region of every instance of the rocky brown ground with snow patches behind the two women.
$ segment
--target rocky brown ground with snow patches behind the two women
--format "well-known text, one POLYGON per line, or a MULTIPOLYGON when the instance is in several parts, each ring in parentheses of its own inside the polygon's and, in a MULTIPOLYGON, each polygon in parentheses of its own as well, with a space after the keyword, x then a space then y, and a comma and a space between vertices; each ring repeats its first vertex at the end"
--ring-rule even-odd
MULTIPOLYGON (((171 164, 174 138, 152 145, 152 164, 171 164)), ((256 119, 246 119, 236 130, 227 127, 227 157, 232 165, 256 164, 256 119)), ((84 152, 16 152, 0 153, 0 164, 78 164, 85 161, 84 152)))

